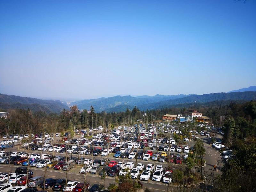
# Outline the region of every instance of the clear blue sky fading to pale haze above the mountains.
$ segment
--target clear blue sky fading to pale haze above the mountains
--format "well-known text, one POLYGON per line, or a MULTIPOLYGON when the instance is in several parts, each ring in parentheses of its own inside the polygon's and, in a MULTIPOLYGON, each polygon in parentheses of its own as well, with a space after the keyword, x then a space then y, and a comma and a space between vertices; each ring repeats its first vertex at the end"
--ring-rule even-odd
POLYGON ((256 1, 0 1, 0 93, 204 94, 256 85, 256 1))

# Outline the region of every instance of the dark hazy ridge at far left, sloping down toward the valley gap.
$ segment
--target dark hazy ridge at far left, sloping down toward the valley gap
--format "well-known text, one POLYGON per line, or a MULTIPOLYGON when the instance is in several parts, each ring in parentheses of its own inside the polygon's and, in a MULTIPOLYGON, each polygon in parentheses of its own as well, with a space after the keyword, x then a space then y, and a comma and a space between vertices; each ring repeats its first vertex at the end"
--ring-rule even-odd
POLYGON ((31 97, 0 94, 0 109, 30 109, 32 111, 45 111, 58 113, 69 107, 59 100, 41 100, 31 97))

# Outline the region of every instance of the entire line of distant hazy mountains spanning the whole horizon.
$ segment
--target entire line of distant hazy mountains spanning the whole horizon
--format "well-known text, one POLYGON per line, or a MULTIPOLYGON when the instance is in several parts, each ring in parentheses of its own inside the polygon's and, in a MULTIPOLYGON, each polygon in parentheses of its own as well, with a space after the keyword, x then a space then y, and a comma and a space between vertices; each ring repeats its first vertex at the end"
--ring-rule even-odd
MULTIPOLYGON (((203 95, 142 95, 137 97, 114 96, 101 97, 98 99, 86 99, 72 102, 69 106, 77 105, 80 110, 87 109, 93 106, 96 112, 120 112, 127 108, 132 110, 137 106, 140 110, 146 111, 151 109, 168 108, 172 106, 191 106, 211 102, 228 102, 239 101, 245 102, 256 100, 256 86, 233 90, 228 93, 211 93, 203 95)), ((30 97, 20 97, 15 95, 0 94, 0 109, 30 109, 32 111, 61 112, 63 109, 69 109, 66 103, 60 100, 41 100, 30 97)))

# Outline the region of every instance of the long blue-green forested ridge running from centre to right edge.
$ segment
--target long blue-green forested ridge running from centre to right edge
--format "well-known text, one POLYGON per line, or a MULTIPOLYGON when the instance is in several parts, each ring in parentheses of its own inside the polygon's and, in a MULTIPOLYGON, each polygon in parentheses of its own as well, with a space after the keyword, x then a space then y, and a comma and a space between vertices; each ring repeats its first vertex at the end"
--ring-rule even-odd
POLYGON ((70 103, 77 105, 79 109, 90 110, 92 105, 96 112, 119 112, 126 108, 132 109, 137 106, 140 110, 161 109, 173 105, 188 103, 208 103, 220 100, 256 100, 256 92, 231 92, 231 93, 211 93, 204 95, 155 95, 155 96, 115 96, 108 98, 98 98, 81 100, 70 103))

